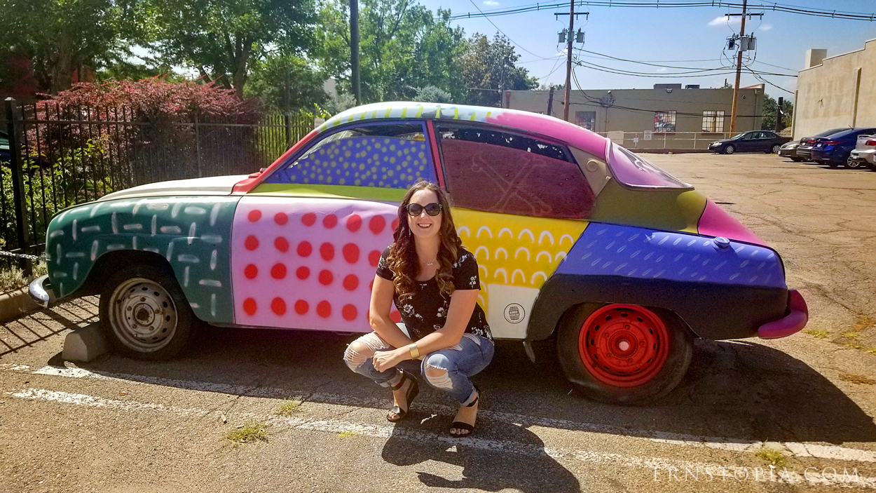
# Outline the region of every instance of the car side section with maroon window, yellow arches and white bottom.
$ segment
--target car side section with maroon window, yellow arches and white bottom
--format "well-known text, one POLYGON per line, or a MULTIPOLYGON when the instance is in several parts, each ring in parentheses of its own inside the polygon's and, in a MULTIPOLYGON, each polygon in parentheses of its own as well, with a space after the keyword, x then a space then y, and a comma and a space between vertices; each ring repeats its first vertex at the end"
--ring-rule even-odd
POLYGON ((541 286, 587 226, 593 192, 556 143, 456 122, 436 135, 457 231, 477 259, 478 302, 493 335, 524 339, 541 286))

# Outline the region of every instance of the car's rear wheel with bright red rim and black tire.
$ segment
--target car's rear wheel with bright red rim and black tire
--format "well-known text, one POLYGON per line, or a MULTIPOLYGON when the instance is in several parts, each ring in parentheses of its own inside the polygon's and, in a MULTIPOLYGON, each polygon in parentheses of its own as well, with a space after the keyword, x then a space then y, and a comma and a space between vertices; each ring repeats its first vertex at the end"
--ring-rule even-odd
POLYGON ((682 381, 693 336, 675 315, 633 304, 583 304, 562 320, 557 354, 569 381, 608 404, 648 404, 682 381))

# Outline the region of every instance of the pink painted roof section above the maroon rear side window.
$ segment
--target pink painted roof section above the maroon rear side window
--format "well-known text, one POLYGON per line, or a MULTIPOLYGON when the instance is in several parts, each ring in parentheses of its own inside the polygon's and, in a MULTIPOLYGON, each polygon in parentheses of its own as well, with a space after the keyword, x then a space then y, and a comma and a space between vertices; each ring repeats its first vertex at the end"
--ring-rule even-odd
POLYGON ((569 146, 575 146, 605 161, 605 145, 608 139, 561 119, 526 111, 504 110, 499 111, 495 117, 487 118, 487 121, 497 125, 530 129, 532 132, 567 142, 569 146))

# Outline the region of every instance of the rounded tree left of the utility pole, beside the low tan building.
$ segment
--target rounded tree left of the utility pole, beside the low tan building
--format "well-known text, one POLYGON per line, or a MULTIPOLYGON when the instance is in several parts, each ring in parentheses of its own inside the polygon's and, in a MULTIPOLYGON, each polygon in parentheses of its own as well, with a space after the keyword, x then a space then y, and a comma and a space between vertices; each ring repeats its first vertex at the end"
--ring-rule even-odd
POLYGON ((492 42, 484 34, 475 33, 465 52, 459 57, 462 82, 467 89, 465 102, 479 106, 498 106, 502 89, 536 89, 538 79, 529 76, 526 68, 515 63, 520 55, 505 36, 496 34, 492 42))

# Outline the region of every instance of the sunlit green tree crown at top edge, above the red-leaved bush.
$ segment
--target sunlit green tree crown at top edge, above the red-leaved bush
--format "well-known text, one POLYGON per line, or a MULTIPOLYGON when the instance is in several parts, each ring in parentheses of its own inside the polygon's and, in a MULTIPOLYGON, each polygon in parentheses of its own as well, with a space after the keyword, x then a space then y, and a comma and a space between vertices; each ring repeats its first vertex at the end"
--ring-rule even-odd
POLYGON ((244 96, 252 66, 269 49, 301 54, 313 45, 313 0, 142 0, 140 36, 169 65, 244 96))

